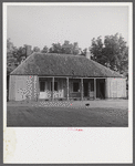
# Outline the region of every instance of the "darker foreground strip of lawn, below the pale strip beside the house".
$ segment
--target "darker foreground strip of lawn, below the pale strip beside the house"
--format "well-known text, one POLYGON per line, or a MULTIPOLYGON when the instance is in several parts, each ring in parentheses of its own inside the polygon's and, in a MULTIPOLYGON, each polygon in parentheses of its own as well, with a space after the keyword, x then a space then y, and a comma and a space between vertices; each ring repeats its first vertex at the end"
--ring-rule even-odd
POLYGON ((7 126, 127 127, 127 108, 8 106, 7 126))

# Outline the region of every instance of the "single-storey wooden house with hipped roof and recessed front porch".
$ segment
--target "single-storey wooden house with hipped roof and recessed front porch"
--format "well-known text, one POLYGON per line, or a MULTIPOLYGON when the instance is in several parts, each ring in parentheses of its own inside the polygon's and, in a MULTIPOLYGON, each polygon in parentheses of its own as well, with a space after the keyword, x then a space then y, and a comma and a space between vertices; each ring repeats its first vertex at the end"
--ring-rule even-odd
POLYGON ((10 101, 124 97, 126 79, 89 54, 33 53, 10 74, 10 101))

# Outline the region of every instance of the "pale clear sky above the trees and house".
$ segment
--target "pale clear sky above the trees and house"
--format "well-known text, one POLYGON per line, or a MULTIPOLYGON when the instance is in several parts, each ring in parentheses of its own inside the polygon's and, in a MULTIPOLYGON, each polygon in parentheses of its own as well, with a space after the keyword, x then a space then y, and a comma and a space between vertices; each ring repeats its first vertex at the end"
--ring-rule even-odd
POLYGON ((124 6, 8 6, 7 38, 14 46, 43 49, 52 43, 77 42, 91 46, 92 39, 122 34, 128 42, 128 7, 124 6))

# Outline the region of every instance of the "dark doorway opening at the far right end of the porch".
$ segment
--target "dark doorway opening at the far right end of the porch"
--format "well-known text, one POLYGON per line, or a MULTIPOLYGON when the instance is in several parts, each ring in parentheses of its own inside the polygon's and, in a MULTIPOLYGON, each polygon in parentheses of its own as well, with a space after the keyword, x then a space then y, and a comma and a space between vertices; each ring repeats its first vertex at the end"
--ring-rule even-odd
POLYGON ((105 79, 96 80, 96 97, 105 98, 105 79))

